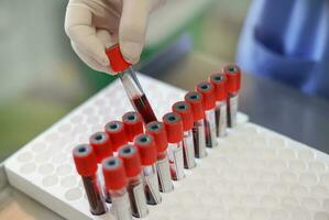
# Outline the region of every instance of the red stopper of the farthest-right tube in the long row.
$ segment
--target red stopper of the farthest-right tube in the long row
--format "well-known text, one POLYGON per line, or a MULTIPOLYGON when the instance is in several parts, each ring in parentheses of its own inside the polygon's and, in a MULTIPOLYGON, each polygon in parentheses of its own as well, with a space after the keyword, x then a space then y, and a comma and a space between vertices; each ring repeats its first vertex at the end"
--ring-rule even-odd
POLYGON ((228 92, 237 94, 241 88, 241 70, 237 65, 227 65, 222 73, 228 77, 228 92))

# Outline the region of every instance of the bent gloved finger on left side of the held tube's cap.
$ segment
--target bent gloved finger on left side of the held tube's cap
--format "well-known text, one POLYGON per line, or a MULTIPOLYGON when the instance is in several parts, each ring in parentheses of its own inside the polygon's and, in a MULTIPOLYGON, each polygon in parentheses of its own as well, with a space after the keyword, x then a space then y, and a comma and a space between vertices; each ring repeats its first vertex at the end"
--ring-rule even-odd
POLYGON ((102 66, 109 66, 105 53, 105 45, 96 36, 96 29, 91 24, 91 11, 85 7, 72 6, 66 10, 65 31, 69 38, 88 56, 91 56, 102 66))

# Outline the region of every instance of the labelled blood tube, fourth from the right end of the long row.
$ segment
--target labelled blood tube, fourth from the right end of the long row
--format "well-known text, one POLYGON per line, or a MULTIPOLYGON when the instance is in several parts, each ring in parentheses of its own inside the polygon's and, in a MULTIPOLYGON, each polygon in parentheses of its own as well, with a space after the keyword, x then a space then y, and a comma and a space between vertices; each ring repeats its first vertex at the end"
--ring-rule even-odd
POLYGON ((185 95, 185 101, 190 105, 193 111, 193 140, 195 146, 195 156, 197 158, 202 158, 207 156, 202 95, 197 91, 189 91, 185 95))

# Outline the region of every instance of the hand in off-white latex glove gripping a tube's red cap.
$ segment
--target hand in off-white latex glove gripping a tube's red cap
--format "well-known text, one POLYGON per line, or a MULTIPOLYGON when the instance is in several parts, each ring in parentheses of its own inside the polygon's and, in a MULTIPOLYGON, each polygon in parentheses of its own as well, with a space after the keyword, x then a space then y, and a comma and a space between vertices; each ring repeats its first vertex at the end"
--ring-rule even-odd
POLYGON ((119 42, 131 64, 140 59, 150 13, 165 0, 69 0, 65 31, 77 55, 91 68, 114 74, 106 47, 119 42))

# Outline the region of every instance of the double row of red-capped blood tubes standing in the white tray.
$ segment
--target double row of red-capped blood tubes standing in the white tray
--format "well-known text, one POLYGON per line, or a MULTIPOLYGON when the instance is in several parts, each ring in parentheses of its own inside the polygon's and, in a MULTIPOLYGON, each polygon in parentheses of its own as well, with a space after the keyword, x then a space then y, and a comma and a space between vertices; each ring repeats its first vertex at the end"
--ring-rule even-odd
MULTIPOLYGON (((76 146, 73 156, 90 212, 103 215, 111 204, 118 220, 147 216, 147 205, 160 204, 161 193, 174 190, 172 180, 183 179, 185 169, 197 165, 195 158, 206 157, 227 127, 237 125, 240 81, 239 67, 228 65, 174 103, 163 122, 147 101, 76 146)), ((140 98, 147 100, 142 94, 132 103, 140 98)))

